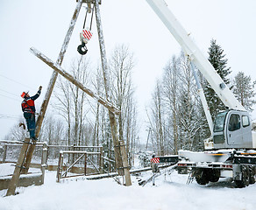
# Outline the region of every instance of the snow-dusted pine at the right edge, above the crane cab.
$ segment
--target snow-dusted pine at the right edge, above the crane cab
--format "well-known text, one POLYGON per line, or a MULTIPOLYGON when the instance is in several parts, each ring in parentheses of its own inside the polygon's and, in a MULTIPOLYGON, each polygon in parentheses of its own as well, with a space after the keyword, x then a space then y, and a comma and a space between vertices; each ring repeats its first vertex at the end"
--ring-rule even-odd
POLYGON ((239 72, 235 76, 233 93, 248 111, 252 111, 252 105, 256 103, 252 99, 256 95, 255 85, 256 81, 251 81, 251 76, 246 76, 245 73, 239 72))

